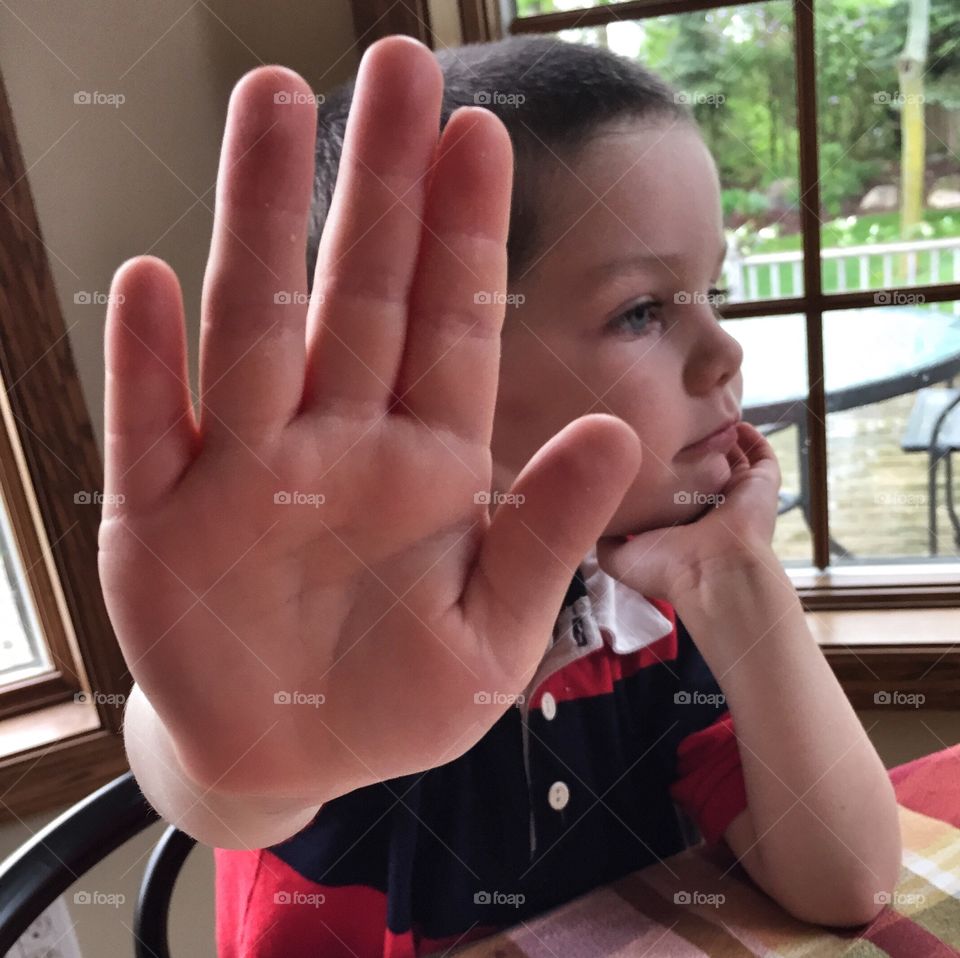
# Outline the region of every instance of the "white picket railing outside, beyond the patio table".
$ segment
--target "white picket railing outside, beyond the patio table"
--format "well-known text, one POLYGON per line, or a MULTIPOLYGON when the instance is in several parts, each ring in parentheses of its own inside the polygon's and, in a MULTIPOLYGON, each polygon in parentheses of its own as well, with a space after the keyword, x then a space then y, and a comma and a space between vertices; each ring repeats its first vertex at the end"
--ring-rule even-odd
MULTIPOLYGON (((879 259, 882 282, 880 289, 894 286, 915 286, 960 280, 960 236, 907 243, 874 243, 869 246, 838 246, 821 251, 824 266, 836 262, 836 281, 825 284, 825 292, 847 293, 876 289, 871 280, 872 267, 879 259), (906 275, 897 279, 895 262, 903 257, 906 275)), ((803 253, 789 250, 782 253, 757 253, 741 257, 731 243, 724 264, 728 301, 760 299, 769 295, 776 299, 803 294, 803 253)), ((941 305, 941 304, 937 304, 941 305)), ((942 304, 960 315, 960 302, 942 304)))

